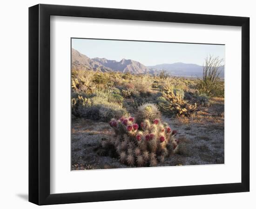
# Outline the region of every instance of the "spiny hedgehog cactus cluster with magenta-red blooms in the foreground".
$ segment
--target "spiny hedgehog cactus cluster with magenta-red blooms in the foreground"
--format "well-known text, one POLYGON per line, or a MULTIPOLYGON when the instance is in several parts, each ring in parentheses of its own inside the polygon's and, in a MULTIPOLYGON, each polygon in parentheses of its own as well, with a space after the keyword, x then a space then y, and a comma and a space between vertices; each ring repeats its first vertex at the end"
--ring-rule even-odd
POLYGON ((120 162, 128 165, 156 166, 175 153, 179 144, 176 131, 159 118, 145 119, 139 124, 133 117, 113 118, 109 125, 115 134, 102 141, 102 148, 115 149, 120 162))

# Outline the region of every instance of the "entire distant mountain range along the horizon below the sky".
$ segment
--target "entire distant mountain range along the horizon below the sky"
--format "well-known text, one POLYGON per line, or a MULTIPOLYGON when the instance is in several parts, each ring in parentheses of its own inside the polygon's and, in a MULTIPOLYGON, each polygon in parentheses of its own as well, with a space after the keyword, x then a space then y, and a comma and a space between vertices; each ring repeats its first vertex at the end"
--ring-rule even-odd
MULTIPOLYGON (((161 64, 145 66, 138 61, 131 59, 121 59, 121 61, 109 60, 105 58, 90 59, 72 48, 72 69, 94 70, 100 72, 130 72, 132 74, 159 74, 165 70, 173 76, 202 77, 202 66, 196 64, 186 64, 182 62, 172 64, 161 64)), ((224 65, 221 66, 220 77, 224 77, 224 65)))

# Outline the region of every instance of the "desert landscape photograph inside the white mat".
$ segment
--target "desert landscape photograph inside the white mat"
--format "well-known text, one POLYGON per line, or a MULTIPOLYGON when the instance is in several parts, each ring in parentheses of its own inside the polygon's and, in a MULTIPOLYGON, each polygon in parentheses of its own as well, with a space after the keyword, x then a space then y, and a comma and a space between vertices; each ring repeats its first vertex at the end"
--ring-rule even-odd
POLYGON ((71 39, 71 170, 224 163, 225 45, 71 39))

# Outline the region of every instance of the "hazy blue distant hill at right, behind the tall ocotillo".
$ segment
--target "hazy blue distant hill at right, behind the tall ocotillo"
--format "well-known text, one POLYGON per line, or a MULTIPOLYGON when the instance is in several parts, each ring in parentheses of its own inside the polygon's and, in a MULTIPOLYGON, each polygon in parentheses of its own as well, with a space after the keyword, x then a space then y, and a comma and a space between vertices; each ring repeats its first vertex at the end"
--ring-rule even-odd
MULTIPOLYGON (((148 68, 155 72, 166 70, 169 74, 175 76, 202 77, 202 66, 196 64, 176 62, 172 64, 148 66, 148 68)), ((220 77, 224 77, 224 65, 220 67, 220 70, 220 77)))

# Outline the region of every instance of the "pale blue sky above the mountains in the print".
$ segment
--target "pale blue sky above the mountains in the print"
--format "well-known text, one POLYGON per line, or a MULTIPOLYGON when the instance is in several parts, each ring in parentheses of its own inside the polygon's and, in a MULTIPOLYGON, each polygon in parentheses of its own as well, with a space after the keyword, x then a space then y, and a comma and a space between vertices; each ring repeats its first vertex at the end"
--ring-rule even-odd
POLYGON ((175 62, 202 65, 209 54, 225 58, 224 45, 72 39, 72 48, 89 58, 133 59, 146 66, 175 62))

